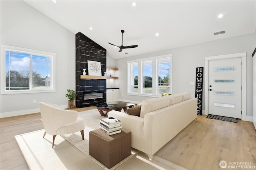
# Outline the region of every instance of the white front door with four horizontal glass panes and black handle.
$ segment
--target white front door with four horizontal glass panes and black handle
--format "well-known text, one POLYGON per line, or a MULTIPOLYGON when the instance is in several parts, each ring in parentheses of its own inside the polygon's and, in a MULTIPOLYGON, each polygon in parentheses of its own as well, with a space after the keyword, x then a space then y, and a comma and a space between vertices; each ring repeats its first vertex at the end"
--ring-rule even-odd
POLYGON ((209 61, 209 114, 241 119, 242 59, 209 61))

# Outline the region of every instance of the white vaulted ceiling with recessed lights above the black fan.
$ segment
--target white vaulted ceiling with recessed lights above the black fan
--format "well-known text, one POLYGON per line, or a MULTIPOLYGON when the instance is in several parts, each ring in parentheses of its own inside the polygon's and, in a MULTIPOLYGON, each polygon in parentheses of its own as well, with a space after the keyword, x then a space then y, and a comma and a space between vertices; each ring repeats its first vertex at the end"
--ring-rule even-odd
POLYGON ((24 1, 72 33, 83 33, 114 59, 254 33, 256 28, 255 0, 24 1), (109 44, 121 45, 121 29, 123 45, 138 47, 118 52, 109 44), (219 31, 226 33, 214 35, 219 31))

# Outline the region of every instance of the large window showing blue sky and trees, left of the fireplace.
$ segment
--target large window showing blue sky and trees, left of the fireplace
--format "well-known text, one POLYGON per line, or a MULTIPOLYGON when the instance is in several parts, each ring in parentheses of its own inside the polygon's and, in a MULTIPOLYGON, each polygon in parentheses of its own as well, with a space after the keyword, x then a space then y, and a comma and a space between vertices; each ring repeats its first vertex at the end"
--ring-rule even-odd
POLYGON ((54 53, 3 47, 5 46, 2 45, 5 53, 4 92, 54 90, 54 53))

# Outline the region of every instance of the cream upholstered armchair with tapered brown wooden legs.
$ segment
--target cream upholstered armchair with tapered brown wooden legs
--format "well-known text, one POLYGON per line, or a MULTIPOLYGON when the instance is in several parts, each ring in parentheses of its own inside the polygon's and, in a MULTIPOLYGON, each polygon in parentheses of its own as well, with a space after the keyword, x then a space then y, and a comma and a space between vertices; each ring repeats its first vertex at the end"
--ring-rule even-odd
POLYGON ((56 135, 80 131, 84 140, 85 121, 78 117, 77 111, 60 109, 56 104, 46 104, 44 102, 39 102, 39 108, 44 125, 44 136, 46 133, 53 135, 52 148, 56 135))

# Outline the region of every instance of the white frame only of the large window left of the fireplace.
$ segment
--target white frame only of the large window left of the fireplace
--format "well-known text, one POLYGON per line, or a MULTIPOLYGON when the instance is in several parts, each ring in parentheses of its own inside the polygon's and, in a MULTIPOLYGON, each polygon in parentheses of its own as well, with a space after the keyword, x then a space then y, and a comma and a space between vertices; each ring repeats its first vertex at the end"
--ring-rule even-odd
MULTIPOLYGON (((55 89, 55 53, 50 53, 46 51, 38 51, 33 49, 26 49, 21 47, 14 47, 10 45, 1 45, 1 59, 0 59, 0 65, 1 65, 1 94, 25 94, 25 93, 46 93, 46 92, 56 92, 55 89), (6 90, 6 72, 5 72, 5 51, 19 51, 19 52, 25 52, 25 53, 33 53, 33 55, 42 55, 45 57, 50 57, 51 59, 51 72, 50 72, 50 88, 42 88, 42 89, 30 89, 30 90, 6 90)), ((31 65, 30 65, 31 68, 31 65)), ((30 79, 31 80, 31 79, 30 79)))

